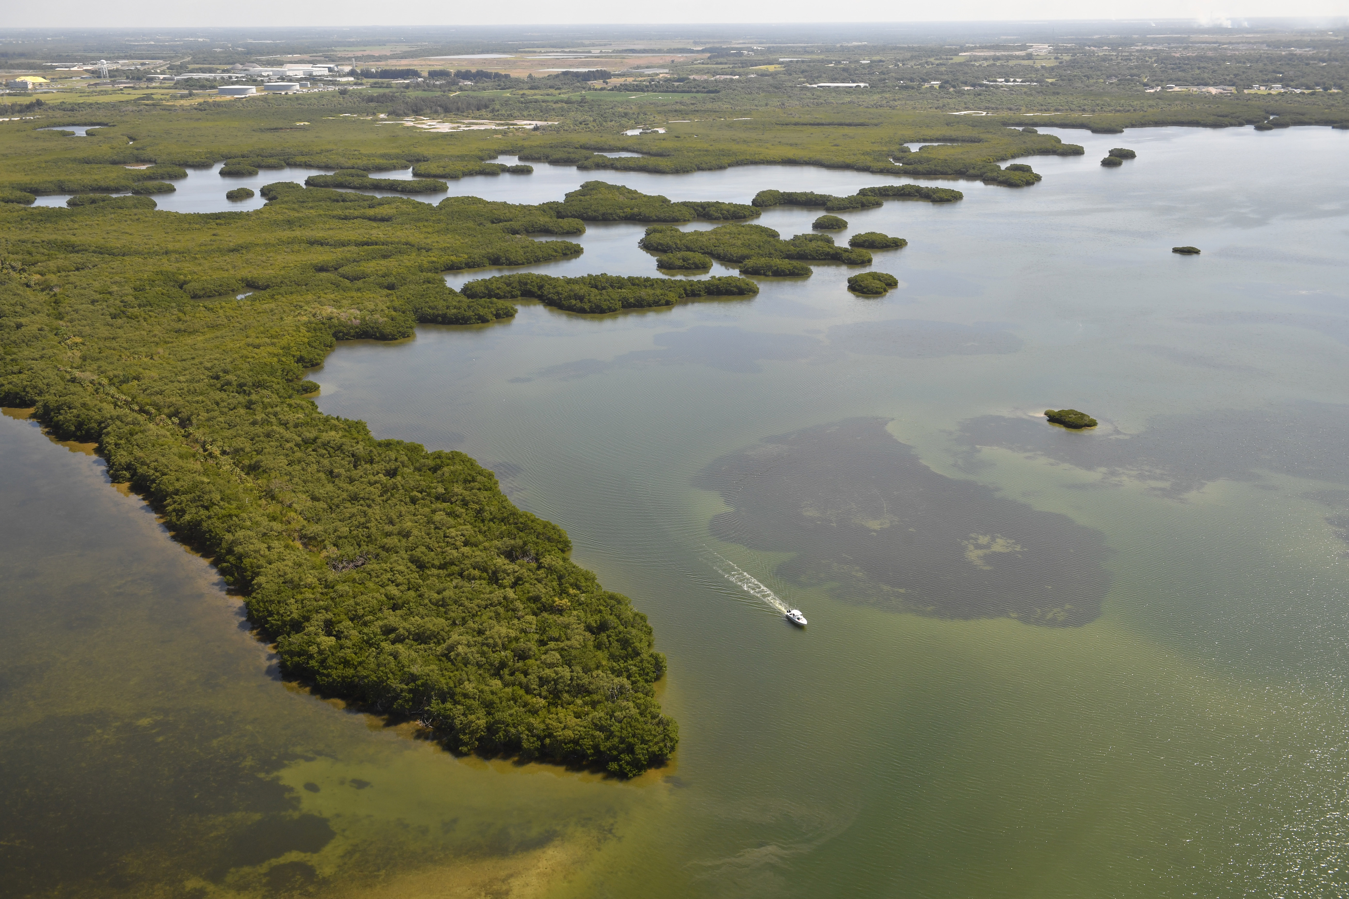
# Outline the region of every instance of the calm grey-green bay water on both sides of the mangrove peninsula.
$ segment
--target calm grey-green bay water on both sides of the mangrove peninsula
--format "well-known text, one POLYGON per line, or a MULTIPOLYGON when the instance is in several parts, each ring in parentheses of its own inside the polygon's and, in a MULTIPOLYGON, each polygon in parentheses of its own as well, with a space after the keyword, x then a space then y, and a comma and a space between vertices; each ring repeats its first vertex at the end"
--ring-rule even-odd
MULTIPOLYGON (((1029 160, 1035 187, 843 213, 840 243, 911 241, 880 299, 817 266, 669 310, 521 303, 312 375, 324 411, 494 469, 650 616, 681 743, 634 782, 456 759, 279 682, 97 460, 0 421, 0 892, 1344 892, 1349 135, 1063 136, 1087 155, 1029 160), (1101 168, 1116 146, 1139 159, 1101 168), (1064 406, 1101 427, 1035 416, 1064 406)), ((882 181, 452 190, 591 178, 882 181)), ((654 274, 642 230, 537 270, 654 274)))

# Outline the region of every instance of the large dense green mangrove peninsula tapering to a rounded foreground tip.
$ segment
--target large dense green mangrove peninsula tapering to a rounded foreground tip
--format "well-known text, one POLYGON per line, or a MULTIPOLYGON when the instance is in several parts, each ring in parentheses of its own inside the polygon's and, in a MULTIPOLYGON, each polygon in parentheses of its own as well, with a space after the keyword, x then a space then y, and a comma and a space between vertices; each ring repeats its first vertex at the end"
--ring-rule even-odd
POLYGON ((461 752, 621 775, 668 757, 677 729, 654 698, 665 660, 652 629, 568 559, 561 528, 511 505, 467 456, 376 441, 304 399, 304 371, 335 340, 514 314, 449 290, 444 270, 580 247, 513 235, 554 218, 537 206, 263 194, 260 210, 196 216, 146 197, 0 204, 15 263, 0 274, 0 403, 97 441, 113 480, 246 596, 289 675, 414 716, 461 752))

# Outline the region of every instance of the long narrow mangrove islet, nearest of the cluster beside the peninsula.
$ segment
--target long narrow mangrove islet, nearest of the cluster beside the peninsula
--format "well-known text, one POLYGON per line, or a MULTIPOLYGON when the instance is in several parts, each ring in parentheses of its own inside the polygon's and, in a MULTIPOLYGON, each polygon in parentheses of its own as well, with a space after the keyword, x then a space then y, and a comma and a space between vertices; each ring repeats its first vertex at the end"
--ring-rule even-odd
MULTIPOLYGON (((711 264, 711 263, 708 263, 711 264)), ((699 280, 669 280, 622 275, 580 275, 554 278, 553 275, 496 275, 464 284, 469 299, 519 299, 527 297, 545 306, 569 313, 603 315, 622 309, 652 309, 673 306, 681 299, 703 297, 753 297, 758 286, 745 278, 703 278, 699 280)))

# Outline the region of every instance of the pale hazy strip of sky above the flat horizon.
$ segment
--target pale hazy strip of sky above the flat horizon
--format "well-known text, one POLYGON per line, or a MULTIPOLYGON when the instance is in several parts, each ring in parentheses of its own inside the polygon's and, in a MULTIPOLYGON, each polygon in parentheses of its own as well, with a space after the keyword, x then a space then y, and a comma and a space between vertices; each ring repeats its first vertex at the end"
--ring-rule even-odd
POLYGON ((1125 4, 1082 0, 943 0, 942 3, 894 3, 893 0, 681 0, 679 4, 591 0, 558 4, 553 0, 511 3, 444 3, 405 0, 372 4, 368 0, 231 0, 231 3, 182 3, 146 0, 109 4, 104 0, 70 0, 62 4, 5 0, 4 27, 197 27, 197 26, 455 26, 455 24, 656 24, 688 23, 795 23, 795 22, 997 22, 1035 19, 1102 19, 1113 11, 1121 18, 1159 16, 1193 19, 1211 24, 1241 24, 1251 16, 1336 18, 1327 27, 1342 27, 1349 0, 1130 0, 1125 4), (677 9, 677 15, 673 15, 677 9))

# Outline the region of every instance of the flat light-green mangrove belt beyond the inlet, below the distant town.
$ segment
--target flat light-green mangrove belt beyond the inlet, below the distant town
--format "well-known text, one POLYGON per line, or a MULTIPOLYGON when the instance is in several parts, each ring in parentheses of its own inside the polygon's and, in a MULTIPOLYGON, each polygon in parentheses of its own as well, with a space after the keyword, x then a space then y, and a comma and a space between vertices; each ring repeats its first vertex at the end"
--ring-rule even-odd
MULTIPOLYGON (((672 129, 666 135, 645 135, 641 139, 625 140, 618 136, 618 131, 622 124, 627 124, 634 115, 639 113, 639 109, 621 102, 587 101, 587 96, 585 93, 523 96, 517 92, 483 97, 469 90, 460 96, 449 96, 444 92, 398 92, 394 96, 382 92, 380 96, 356 92, 349 97, 341 97, 337 92, 331 92, 299 97, 263 97, 252 106, 247 104, 210 104, 209 109, 202 111, 200 121, 190 123, 177 120, 170 123, 163 112, 152 108, 138 108, 134 119, 128 121, 127 117, 132 113, 120 109, 119 116, 124 124, 94 132, 103 136, 81 139, 81 158, 70 152, 76 150, 70 146, 73 142, 54 132, 47 132, 42 140, 22 140, 23 132, 20 131, 0 137, 0 143, 7 151, 4 158, 8 158, 11 150, 20 155, 39 147, 45 151, 38 164, 20 167, 0 163, 0 187, 12 187, 27 193, 62 193, 59 187, 76 186, 77 190, 112 193, 125 190, 125 185, 132 178, 127 174, 132 170, 123 168, 124 164, 152 160, 198 166, 229 159, 251 164, 255 168, 263 168, 270 163, 378 171, 426 162, 432 155, 436 155, 438 158, 453 156, 475 167, 471 171, 484 173, 486 170, 476 168, 476 166, 492 159, 499 152, 511 151, 519 152, 525 163, 536 159, 552 163, 575 163, 587 171, 673 174, 739 164, 797 163, 885 174, 901 171, 905 175, 928 177, 924 174, 925 166, 905 164, 897 170, 896 164, 890 162, 890 156, 896 155, 893 150, 897 139, 896 132, 900 132, 900 136, 907 140, 960 137, 954 146, 928 147, 919 154, 901 154, 905 158, 921 158, 924 163, 943 160, 934 168, 932 177, 952 177, 948 173, 966 171, 974 166, 986 174, 1000 173, 998 177, 1002 181, 1010 182, 1021 179, 1021 174, 1001 174, 1002 170, 998 168, 998 164, 990 160, 1063 150, 1062 142, 1052 135, 1023 133, 1020 129, 1013 131, 992 121, 950 123, 948 117, 943 117, 919 127, 924 121, 921 117, 861 109, 858 111, 859 116, 865 112, 866 117, 874 119, 874 121, 866 124, 862 117, 858 117, 858 127, 849 128, 846 135, 839 135, 839 129, 834 127, 835 120, 839 119, 836 113, 828 116, 796 113, 800 117, 791 119, 774 111, 773 117, 765 119, 764 124, 759 124, 758 117, 734 124, 727 120, 726 123, 699 125, 699 131, 695 133, 687 133, 689 129, 684 128, 672 129), (479 108, 483 104, 488 104, 490 112, 479 108), (494 135, 479 132, 455 135, 452 143, 456 146, 449 152, 447 152, 449 148, 442 146, 432 147, 428 136, 418 132, 401 133, 394 139, 393 146, 386 140, 382 142, 383 146, 376 147, 364 135, 357 135, 349 128, 339 129, 336 123, 341 123, 341 119, 335 116, 335 112, 364 112, 370 111, 372 105, 395 115, 483 113, 498 119, 556 119, 561 124, 549 125, 541 133, 511 131, 502 135, 505 140, 492 140, 494 135), (309 109, 309 112, 299 112, 299 108, 309 109), (313 135, 312 137, 302 137, 293 125, 301 115, 313 121, 312 127, 304 129, 306 135, 313 135), (274 119, 275 125, 263 129, 246 127, 246 123, 255 116, 274 119), (796 127, 778 127, 784 119, 796 127), (247 133, 248 142, 220 140, 219 135, 206 137, 209 128, 225 123, 232 124, 239 133, 247 133), (708 133, 703 133, 704 127, 708 133), (166 139, 165 128, 171 128, 171 137, 166 139), (575 135, 558 133, 558 129, 564 128, 599 128, 600 133, 577 139, 575 135), (135 131, 148 133, 142 133, 135 144, 127 144, 121 137, 135 131), (66 146, 59 147, 59 150, 66 151, 65 154, 47 152, 57 150, 61 140, 66 140, 66 146), (595 152, 596 150, 608 151, 629 147, 639 148, 642 155, 614 158, 595 152), (940 154, 935 151, 940 151, 940 154)), ((680 113, 673 112, 676 106, 670 106, 669 115, 697 117, 699 112, 695 104, 704 101, 674 102, 688 105, 677 106, 681 109, 680 113)), ((724 101, 718 100, 716 102, 724 101)), ((108 109, 104 108, 100 112, 105 116, 108 109)), ((82 120, 88 121, 88 117, 82 117, 82 120)), ((1090 120, 1078 119, 1078 123, 1081 121, 1090 120)), ((444 139, 440 139, 438 144, 444 144, 444 139)), ((449 177, 447 173, 441 179, 449 177)), ((1033 175, 1025 174, 1025 178, 1033 179, 1033 175)), ((892 186, 902 187, 905 185, 892 186)), ((907 186, 917 189, 917 185, 907 186)), ((940 191, 943 189, 927 190, 940 191)), ((867 193, 862 195, 867 195, 867 193)), ((958 193, 955 191, 956 195, 958 193)), ((923 197, 915 195, 915 198, 923 197)), ((940 202, 938 195, 934 195, 932 199, 940 202)), ((738 220, 739 212, 734 208, 728 212, 731 214, 727 220, 738 220)), ((715 216, 716 213, 704 210, 700 214, 715 216)))

